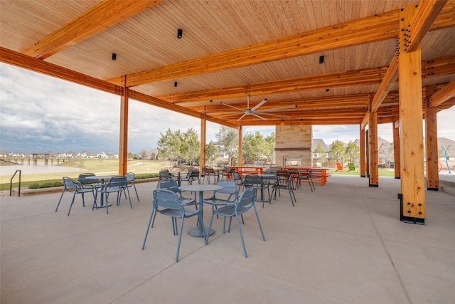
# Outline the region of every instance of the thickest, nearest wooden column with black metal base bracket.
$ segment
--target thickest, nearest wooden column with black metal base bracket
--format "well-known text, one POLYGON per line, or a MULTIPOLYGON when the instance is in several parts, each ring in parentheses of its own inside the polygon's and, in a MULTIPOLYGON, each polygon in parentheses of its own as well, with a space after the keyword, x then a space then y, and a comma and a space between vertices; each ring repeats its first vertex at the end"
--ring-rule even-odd
POLYGON ((422 105, 421 48, 407 53, 412 16, 416 8, 406 6, 400 11, 400 57, 398 58, 398 88, 400 92, 400 160, 401 199, 400 220, 424 224, 424 142, 422 105), (406 34, 406 35, 405 35, 406 34))

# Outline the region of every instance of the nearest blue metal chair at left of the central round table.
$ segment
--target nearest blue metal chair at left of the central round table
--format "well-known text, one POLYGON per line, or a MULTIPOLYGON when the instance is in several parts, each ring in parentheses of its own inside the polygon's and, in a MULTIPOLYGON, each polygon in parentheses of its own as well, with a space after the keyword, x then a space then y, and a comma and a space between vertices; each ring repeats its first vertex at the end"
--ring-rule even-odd
MULTIPOLYGON (((181 238, 182 238, 182 232, 183 232, 183 221, 186 218, 193 217, 193 216, 198 216, 198 221, 201 225, 203 234, 204 234, 204 239, 206 238, 205 236, 205 229, 204 229, 204 222, 202 219, 202 206, 200 206, 200 209, 190 209, 186 208, 185 205, 181 204, 180 199, 178 199, 178 196, 175 192, 168 190, 168 189, 154 189, 153 192, 153 209, 151 210, 150 214, 150 219, 149 219, 149 224, 147 225, 146 233, 144 236, 144 243, 142 243, 142 250, 145 248, 145 243, 147 240, 147 236, 149 234, 149 229, 153 228, 154 226, 154 221, 155 221, 155 216, 157 213, 163 214, 165 216, 170 216, 172 218, 172 229, 173 229, 173 235, 175 236, 178 234, 178 243, 177 243, 177 253, 176 253, 176 262, 178 262, 178 253, 180 251, 180 243, 181 243, 181 238), (177 233, 177 223, 174 221, 174 219, 180 218, 181 225, 180 225, 180 233, 177 233)), ((198 205, 200 203, 196 203, 198 205)))

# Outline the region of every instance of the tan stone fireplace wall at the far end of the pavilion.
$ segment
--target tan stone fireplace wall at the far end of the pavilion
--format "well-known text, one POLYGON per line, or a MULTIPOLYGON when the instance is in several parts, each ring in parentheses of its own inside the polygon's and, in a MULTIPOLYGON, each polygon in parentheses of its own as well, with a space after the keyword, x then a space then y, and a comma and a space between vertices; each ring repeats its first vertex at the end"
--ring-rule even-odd
POLYGON ((312 166, 313 126, 277 125, 275 135, 277 167, 287 167, 289 164, 286 164, 286 159, 295 159, 295 166, 312 166))

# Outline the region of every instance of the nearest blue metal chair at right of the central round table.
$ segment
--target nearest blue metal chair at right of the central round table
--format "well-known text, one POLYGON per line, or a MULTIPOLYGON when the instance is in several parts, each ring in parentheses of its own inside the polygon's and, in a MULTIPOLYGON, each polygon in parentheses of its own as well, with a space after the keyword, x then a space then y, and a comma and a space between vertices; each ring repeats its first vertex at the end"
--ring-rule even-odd
MULTIPOLYGON (((228 218, 228 217, 230 218, 229 219, 229 228, 228 228, 228 232, 230 232, 232 216, 235 216, 235 219, 237 220, 237 226, 239 227, 240 240, 242 240, 243 253, 245 253, 245 258, 248 257, 247 249, 245 248, 245 241, 243 240, 242 227, 240 226, 239 216, 242 216, 247 211, 249 211, 251 208, 253 208, 255 210, 257 224, 259 224, 259 229, 261 230, 262 240, 265 241, 264 231, 262 231, 261 221, 259 221, 259 215, 257 214, 257 209, 256 209, 256 205, 255 205, 256 192, 257 192, 257 189, 255 187, 250 187, 250 188, 245 189, 245 191, 242 192, 242 195, 238 196, 237 199, 232 203, 214 203, 214 204, 212 204, 212 216, 210 218, 210 225, 208 226, 208 231, 211 231, 212 224, 213 224, 213 216, 215 216, 215 215, 224 216, 225 219, 224 219, 224 223, 223 223, 223 234, 225 234, 226 218, 228 218), (217 208, 217 206, 220 208, 217 208)), ((205 238, 205 245, 208 244, 208 238, 209 238, 209 236, 207 236, 205 238)))

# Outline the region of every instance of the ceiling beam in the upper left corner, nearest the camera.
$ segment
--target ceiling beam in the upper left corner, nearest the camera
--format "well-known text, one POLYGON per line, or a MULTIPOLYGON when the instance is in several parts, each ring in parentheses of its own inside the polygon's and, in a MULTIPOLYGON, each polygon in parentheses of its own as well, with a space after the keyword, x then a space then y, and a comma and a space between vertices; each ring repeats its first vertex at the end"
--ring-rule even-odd
POLYGON ((84 14, 41 39, 22 53, 45 59, 90 36, 100 33, 130 17, 159 4, 163 0, 101 1, 84 14))

